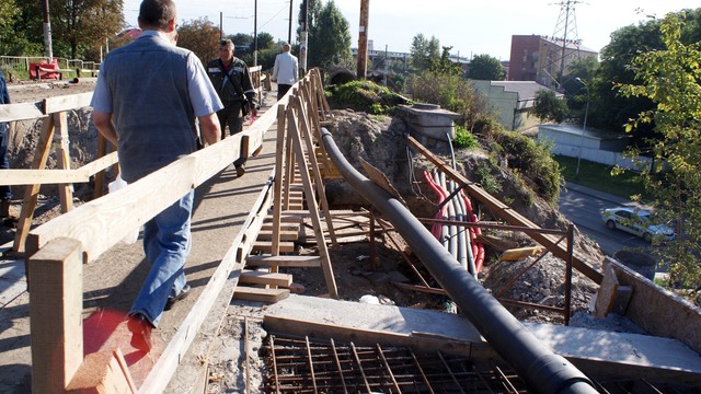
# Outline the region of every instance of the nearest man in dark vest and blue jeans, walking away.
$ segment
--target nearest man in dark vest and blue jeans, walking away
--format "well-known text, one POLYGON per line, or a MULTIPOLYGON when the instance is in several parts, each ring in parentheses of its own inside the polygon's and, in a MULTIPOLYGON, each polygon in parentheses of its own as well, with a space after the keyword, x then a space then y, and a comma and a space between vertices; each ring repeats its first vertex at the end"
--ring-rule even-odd
MULTIPOLYGON (((175 46, 172 0, 143 0, 141 36, 112 50, 100 67, 91 106, 97 130, 114 146, 127 183, 219 141, 217 111, 223 105, 205 68, 191 50, 175 46), (136 81, 136 82, 135 82, 136 81)), ((151 331, 166 308, 189 291, 183 267, 191 247, 194 190, 143 225, 143 252, 151 269, 128 314, 131 345, 151 348, 151 331)))

